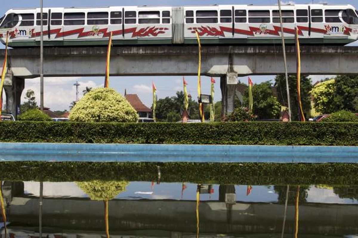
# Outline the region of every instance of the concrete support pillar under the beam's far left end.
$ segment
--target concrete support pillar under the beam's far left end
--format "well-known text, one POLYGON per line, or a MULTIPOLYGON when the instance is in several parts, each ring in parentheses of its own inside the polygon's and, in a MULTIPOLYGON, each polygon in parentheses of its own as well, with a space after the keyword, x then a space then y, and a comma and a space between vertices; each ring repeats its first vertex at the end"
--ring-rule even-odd
POLYGON ((18 115, 18 108, 21 104, 21 93, 25 87, 25 80, 8 74, 5 77, 4 89, 6 94, 6 111, 11 114, 18 115))

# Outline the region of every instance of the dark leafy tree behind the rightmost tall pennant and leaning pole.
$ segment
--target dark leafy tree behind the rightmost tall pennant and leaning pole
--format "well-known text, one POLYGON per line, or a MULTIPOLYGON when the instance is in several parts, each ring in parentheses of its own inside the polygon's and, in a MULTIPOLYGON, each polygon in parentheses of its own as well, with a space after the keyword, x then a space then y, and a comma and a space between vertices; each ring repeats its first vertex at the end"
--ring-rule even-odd
MULTIPOLYGON (((297 100, 297 77, 289 75, 289 90, 291 98, 292 121, 298 121, 298 100, 297 100)), ((281 105, 287 106, 286 79, 285 75, 277 75, 275 77, 275 87, 278 92, 278 100, 281 105)), ((301 102, 304 112, 311 109, 310 91, 312 89, 311 79, 306 75, 301 75, 301 102)))

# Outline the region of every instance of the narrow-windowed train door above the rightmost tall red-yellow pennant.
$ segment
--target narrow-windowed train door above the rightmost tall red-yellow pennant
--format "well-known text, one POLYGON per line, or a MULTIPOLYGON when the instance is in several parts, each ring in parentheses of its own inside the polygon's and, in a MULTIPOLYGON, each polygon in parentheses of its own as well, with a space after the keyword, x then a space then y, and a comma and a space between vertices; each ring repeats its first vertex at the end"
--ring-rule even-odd
POLYGON ((295 6, 295 16, 296 24, 295 26, 299 29, 299 38, 308 39, 311 35, 310 30, 310 7, 309 5, 296 5, 295 6))

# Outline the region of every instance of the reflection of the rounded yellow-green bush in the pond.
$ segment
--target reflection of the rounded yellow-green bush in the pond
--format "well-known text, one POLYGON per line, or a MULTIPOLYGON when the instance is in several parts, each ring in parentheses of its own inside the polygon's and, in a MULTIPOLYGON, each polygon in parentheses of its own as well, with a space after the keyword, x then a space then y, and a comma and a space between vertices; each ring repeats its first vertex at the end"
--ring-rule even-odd
POLYGON ((119 193, 126 191, 127 181, 99 181, 76 182, 78 187, 85 192, 91 200, 111 200, 119 193))

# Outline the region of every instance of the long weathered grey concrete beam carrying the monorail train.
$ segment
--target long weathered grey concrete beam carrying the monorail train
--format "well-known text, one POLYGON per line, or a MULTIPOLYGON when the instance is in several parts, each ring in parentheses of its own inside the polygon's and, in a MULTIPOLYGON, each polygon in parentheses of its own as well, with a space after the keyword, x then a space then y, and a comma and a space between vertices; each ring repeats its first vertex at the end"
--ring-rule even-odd
MULTIPOLYGON (((296 52, 287 46, 288 71, 296 72, 296 52)), ((103 76, 106 47, 45 48, 45 76, 103 76)), ((196 46, 113 47, 112 76, 196 75, 196 46)), ((0 50, 0 59, 4 50, 0 50)), ((39 49, 11 49, 9 63, 16 77, 39 76, 39 49)), ((303 74, 358 74, 358 47, 302 46, 303 74)), ((283 74, 280 46, 203 46, 202 74, 223 76, 283 74)))

